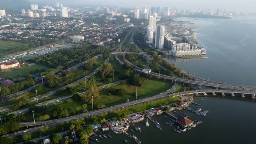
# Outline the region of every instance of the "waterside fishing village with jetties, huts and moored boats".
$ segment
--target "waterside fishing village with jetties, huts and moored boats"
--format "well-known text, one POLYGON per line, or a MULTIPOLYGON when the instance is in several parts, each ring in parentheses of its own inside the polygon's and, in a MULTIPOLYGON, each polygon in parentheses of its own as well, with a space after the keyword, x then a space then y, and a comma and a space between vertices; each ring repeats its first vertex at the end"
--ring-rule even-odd
MULTIPOLYGON (((199 103, 202 103, 204 99, 201 99, 199 103)), ((192 97, 181 97, 181 100, 166 106, 161 106, 158 108, 151 108, 146 111, 135 112, 133 114, 128 115, 126 118, 122 118, 117 120, 117 118, 112 118, 105 120, 103 124, 93 124, 92 128, 94 134, 90 136, 92 140, 92 144, 96 144, 100 139, 108 139, 112 138, 112 130, 115 134, 125 134, 127 139, 124 139, 124 143, 128 144, 128 142, 135 141, 137 144, 141 144, 142 142, 136 137, 136 132, 141 133, 142 129, 135 126, 135 123, 140 121, 146 122, 144 123, 146 127, 149 127, 148 121, 151 121, 156 129, 162 130, 161 124, 154 119, 155 115, 163 115, 163 117, 167 118, 165 124, 171 127, 171 131, 181 133, 190 130, 191 128, 197 127, 197 125, 202 124, 203 122, 200 120, 190 120, 190 115, 184 113, 182 115, 178 115, 177 111, 187 110, 192 112, 198 116, 207 116, 208 110, 202 111, 200 108, 200 104, 194 102, 192 97), (193 104, 193 106, 190 106, 193 104), (171 118, 171 119, 169 119, 171 118), (100 130, 102 132, 100 132, 100 130)), ((200 118, 200 117, 199 117, 200 118)))

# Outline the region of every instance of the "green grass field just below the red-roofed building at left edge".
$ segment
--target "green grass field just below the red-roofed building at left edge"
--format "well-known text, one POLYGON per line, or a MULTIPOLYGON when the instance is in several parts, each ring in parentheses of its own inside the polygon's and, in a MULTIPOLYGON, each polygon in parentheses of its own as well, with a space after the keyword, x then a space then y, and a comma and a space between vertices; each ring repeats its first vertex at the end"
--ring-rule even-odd
POLYGON ((25 76, 30 73, 30 71, 33 71, 35 69, 49 69, 48 67, 44 65, 31 65, 31 66, 23 66, 19 69, 14 69, 12 71, 7 71, 7 72, 0 72, 0 76, 4 76, 6 78, 9 77, 18 77, 19 76, 25 76))

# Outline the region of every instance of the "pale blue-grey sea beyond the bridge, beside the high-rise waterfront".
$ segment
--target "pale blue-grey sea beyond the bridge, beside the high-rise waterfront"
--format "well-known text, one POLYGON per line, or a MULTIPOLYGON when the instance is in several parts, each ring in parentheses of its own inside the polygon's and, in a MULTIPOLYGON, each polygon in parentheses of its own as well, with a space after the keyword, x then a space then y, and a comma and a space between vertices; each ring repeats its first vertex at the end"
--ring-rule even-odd
POLYGON ((256 85, 256 17, 230 20, 181 18, 196 28, 197 41, 207 46, 208 59, 180 59, 167 56, 192 75, 218 82, 256 85))

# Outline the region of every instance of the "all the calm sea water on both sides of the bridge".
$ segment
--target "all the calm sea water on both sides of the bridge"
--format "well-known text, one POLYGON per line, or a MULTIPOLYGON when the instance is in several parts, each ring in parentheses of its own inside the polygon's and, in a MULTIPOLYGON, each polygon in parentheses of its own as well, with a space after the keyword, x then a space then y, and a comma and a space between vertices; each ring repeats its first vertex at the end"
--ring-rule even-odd
MULTIPOLYGON (((182 18, 180 20, 191 21, 189 24, 197 28, 197 41, 203 46, 207 46, 208 59, 179 59, 166 57, 169 62, 174 63, 190 72, 193 75, 214 81, 256 85, 256 17, 240 17, 232 20, 218 19, 192 19, 182 18)), ((195 98, 201 101, 202 98, 195 98)), ((178 134, 172 129, 176 126, 167 126, 165 122, 171 120, 162 115, 155 116, 163 131, 155 128, 149 121, 149 127, 145 126, 145 121, 135 124, 142 129, 142 133, 137 131, 134 134, 141 140, 142 144, 255 144, 256 129, 256 104, 251 98, 203 98, 201 103, 202 111, 209 110, 207 117, 197 116, 185 110, 179 111, 178 115, 187 113, 191 115, 191 120, 203 121, 203 124, 192 128, 189 131, 178 134)), ((191 105, 196 108, 195 105, 191 105)), ((114 134, 111 139, 101 139, 98 144, 124 144, 124 140, 129 140, 129 144, 135 142, 124 134, 114 134)))

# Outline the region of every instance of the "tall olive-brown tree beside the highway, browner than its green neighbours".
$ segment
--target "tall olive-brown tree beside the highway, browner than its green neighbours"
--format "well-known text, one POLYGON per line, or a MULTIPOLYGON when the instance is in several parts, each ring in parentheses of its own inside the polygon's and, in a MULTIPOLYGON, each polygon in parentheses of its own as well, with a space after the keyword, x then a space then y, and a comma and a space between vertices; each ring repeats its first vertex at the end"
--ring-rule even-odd
POLYGON ((85 101, 89 104, 92 104, 92 96, 93 101, 97 103, 99 97, 99 88, 94 84, 89 88, 88 93, 85 94, 85 101))

